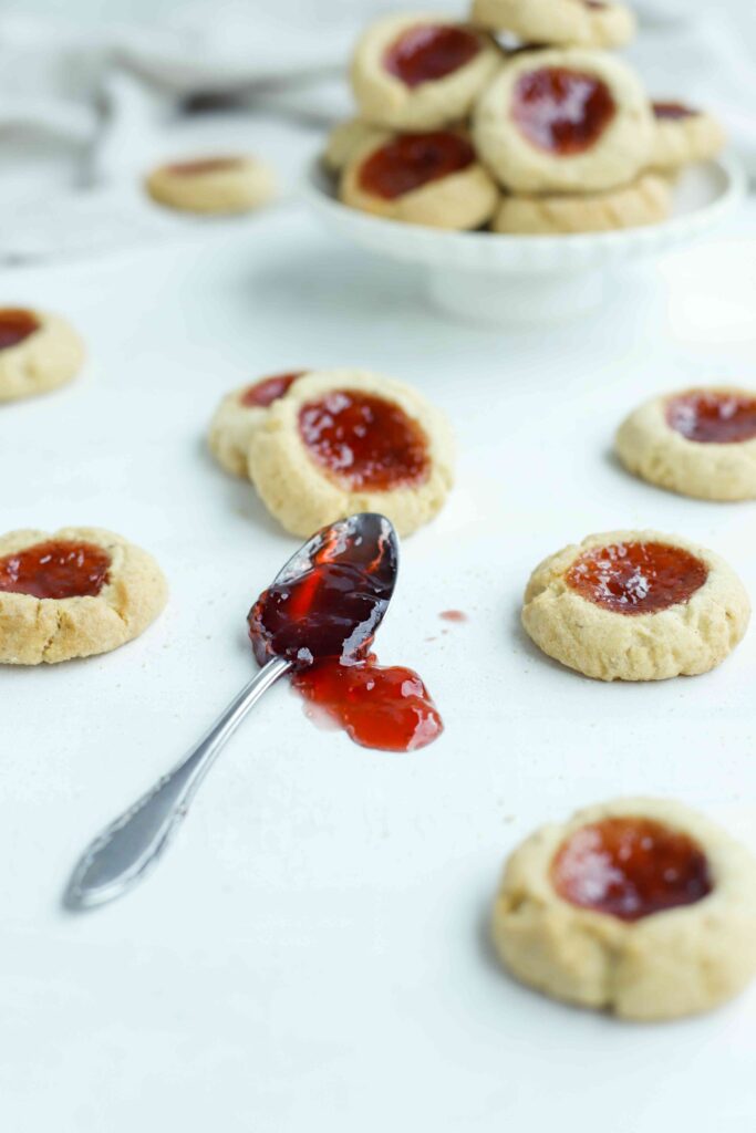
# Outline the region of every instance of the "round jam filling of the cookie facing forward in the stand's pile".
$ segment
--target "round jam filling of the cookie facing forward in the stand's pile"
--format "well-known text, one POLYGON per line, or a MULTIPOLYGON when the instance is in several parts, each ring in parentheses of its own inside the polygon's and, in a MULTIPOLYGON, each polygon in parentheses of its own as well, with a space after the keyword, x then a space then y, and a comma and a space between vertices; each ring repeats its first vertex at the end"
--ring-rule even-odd
POLYGON ((597 142, 615 109, 611 91, 595 75, 542 67, 517 80, 511 113, 528 142, 569 157, 597 142))

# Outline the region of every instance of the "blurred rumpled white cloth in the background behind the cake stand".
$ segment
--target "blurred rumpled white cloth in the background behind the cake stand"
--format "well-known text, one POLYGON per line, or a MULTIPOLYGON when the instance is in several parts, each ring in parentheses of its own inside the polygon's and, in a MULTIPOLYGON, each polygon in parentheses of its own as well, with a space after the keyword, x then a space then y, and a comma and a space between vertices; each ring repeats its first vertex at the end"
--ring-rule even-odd
MULTIPOLYGON (((676 5, 644 0, 645 16, 665 18, 651 19, 630 57, 652 94, 720 114, 756 173, 748 45, 721 8, 676 5)), ((282 164, 290 185, 328 122, 349 113, 341 76, 359 27, 396 7, 224 0, 105 24, 0 14, 0 261, 175 235, 176 219, 138 191, 144 170, 167 157, 241 146, 282 164), (239 88, 248 112, 180 112, 187 95, 239 88)))

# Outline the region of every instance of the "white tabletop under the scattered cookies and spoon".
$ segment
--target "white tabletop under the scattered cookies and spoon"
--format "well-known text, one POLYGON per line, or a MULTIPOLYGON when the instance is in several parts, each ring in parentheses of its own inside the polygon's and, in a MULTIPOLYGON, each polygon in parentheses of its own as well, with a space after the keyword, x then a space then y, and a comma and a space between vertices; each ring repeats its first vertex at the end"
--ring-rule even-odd
POLYGON ((518 624, 545 554, 656 527, 724 554, 756 595, 754 505, 678 499, 610 455, 656 390, 756 383, 756 211, 626 276, 574 325, 477 329, 410 270, 332 244, 299 206, 202 241, 17 272, 3 301, 83 332, 83 377, 2 408, 2 527, 111 527, 170 605, 108 656, 0 674, 0 1119, 26 1133, 744 1133, 756 989, 630 1026, 512 982, 486 922, 502 860, 593 800, 670 794, 754 835, 756 631, 712 674, 603 685, 518 624), (450 414, 458 484, 404 544, 379 639, 447 731, 363 750, 284 687, 255 709, 160 869, 86 915, 59 897, 84 843, 253 672, 245 615, 294 542, 204 434, 221 393, 356 364, 450 414), (456 607, 466 624, 440 620, 456 607))

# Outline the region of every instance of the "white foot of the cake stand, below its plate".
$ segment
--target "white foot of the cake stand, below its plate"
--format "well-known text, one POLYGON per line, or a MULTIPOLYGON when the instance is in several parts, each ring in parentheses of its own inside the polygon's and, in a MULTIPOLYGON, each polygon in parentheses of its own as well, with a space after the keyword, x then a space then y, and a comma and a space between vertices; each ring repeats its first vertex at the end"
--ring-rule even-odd
POLYGON ((427 275, 436 307, 456 318, 477 323, 540 323, 575 318, 600 306, 604 296, 601 269, 533 275, 493 275, 439 271, 427 275))

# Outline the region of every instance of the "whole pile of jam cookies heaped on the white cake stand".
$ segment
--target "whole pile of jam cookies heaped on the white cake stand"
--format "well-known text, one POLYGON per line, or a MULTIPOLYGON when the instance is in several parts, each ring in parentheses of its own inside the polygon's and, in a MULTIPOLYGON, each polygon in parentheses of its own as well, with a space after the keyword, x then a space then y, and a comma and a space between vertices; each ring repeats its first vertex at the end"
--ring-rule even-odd
POLYGON ((634 32, 613 0, 474 0, 465 23, 377 20, 351 61, 358 118, 323 156, 341 201, 515 235, 657 223, 670 174, 714 156, 723 134, 707 113, 649 101, 608 50, 634 32))

